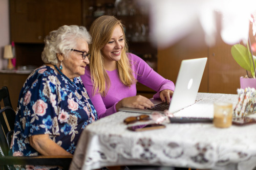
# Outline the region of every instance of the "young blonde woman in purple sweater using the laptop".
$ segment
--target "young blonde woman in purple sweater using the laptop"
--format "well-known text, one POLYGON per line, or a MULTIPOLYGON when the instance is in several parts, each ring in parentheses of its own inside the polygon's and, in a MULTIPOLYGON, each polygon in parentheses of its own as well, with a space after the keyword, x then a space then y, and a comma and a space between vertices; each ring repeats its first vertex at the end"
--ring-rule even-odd
POLYGON ((127 53, 127 43, 120 20, 101 16, 91 26, 90 65, 81 76, 99 118, 121 107, 151 108, 154 104, 136 95, 136 82, 157 91, 154 98, 170 102, 174 83, 157 74, 138 56, 127 53))

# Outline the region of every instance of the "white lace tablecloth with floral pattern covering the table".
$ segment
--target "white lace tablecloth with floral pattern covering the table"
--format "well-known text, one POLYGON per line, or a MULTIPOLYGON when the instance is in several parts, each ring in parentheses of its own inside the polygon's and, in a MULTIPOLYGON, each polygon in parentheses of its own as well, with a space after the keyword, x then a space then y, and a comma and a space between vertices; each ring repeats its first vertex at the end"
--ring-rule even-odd
MULTIPOLYGON (((238 95, 198 93, 194 105, 177 116, 213 117, 213 103, 235 105, 238 95)), ((256 124, 221 129, 213 124, 166 124, 133 132, 123 119, 137 113, 117 112, 89 125, 82 133, 70 169, 114 165, 164 165, 199 169, 253 169, 256 124)))

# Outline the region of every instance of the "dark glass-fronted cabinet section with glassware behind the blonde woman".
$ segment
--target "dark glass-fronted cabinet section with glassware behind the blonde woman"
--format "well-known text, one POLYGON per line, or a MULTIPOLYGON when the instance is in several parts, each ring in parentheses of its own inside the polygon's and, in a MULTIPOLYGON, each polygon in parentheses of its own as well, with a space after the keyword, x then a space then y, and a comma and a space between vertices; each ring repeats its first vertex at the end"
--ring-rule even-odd
MULTIPOLYGON (((137 8, 131 0, 83 0, 83 25, 90 29, 92 22, 100 15, 114 15, 125 27, 129 52, 145 60, 157 71, 157 48, 148 40, 148 14, 137 8), (119 3, 119 5, 117 4, 119 3)), ((137 94, 152 98, 156 92, 140 83, 137 94)))

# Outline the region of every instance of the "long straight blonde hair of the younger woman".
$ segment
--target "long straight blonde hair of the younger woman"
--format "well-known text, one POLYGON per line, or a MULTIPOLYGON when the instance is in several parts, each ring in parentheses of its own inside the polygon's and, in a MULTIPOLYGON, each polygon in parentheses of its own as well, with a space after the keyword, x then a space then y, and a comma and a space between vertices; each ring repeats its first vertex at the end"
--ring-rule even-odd
POLYGON ((121 27, 125 42, 121 53, 121 59, 117 61, 119 79, 124 85, 129 87, 136 83, 133 76, 131 63, 126 56, 128 46, 123 31, 123 25, 121 21, 114 16, 104 15, 94 20, 90 28, 92 43, 89 45, 89 52, 91 53, 90 71, 94 87, 93 95, 98 92, 101 94, 101 96, 105 96, 110 88, 111 82, 104 68, 104 56, 102 54, 102 48, 110 41, 116 26, 121 27))

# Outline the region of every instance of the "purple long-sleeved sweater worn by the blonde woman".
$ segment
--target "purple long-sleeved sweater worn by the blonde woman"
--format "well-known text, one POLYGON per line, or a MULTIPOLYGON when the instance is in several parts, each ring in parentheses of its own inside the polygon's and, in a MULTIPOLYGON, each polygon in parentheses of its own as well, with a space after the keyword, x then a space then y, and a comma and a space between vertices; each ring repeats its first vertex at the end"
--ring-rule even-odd
MULTIPOLYGON (((159 92, 164 89, 175 89, 174 83, 167 79, 164 79, 156 71, 154 71, 144 60, 140 57, 127 53, 127 57, 131 60, 132 70, 134 71, 134 78, 141 84, 157 91, 154 98, 160 98, 159 92)), ((91 101, 98 113, 98 117, 105 117, 111 115, 116 111, 116 104, 123 98, 135 96, 137 93, 136 84, 131 87, 122 84, 118 77, 117 69, 106 72, 109 75, 111 86, 105 97, 102 97, 99 93, 93 94, 93 84, 91 82, 91 74, 89 67, 86 67, 85 74, 80 76, 84 87, 91 98, 91 101)))

